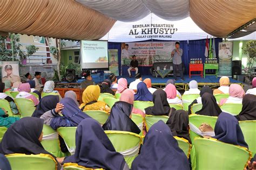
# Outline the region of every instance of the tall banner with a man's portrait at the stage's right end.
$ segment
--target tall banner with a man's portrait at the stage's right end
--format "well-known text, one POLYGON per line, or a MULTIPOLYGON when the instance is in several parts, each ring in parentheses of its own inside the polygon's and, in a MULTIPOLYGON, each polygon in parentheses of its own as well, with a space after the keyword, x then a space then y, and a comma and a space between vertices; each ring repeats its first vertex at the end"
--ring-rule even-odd
POLYGON ((233 42, 219 42, 219 75, 232 76, 233 42))

